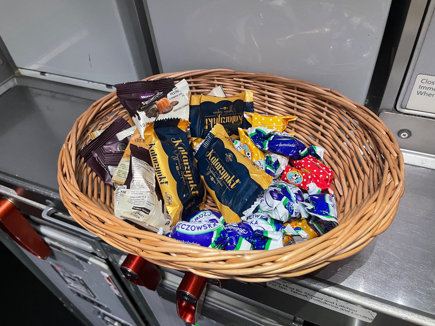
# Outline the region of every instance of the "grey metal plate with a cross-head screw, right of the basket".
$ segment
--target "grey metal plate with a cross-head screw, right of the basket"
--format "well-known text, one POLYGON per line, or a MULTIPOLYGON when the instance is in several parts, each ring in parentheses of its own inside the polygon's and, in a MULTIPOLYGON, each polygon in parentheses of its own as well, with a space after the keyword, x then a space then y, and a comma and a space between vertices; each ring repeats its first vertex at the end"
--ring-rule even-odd
POLYGON ((400 148, 416 152, 435 154, 435 120, 422 116, 411 116, 394 111, 382 111, 379 117, 395 136, 400 148), (398 131, 408 129, 409 138, 401 138, 398 131))

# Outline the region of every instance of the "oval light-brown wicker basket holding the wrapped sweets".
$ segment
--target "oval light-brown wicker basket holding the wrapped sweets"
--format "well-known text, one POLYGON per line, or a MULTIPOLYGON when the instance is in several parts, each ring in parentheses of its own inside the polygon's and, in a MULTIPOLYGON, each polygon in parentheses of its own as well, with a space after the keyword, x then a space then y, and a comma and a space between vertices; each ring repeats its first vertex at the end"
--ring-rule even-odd
MULTIPOLYGON (((110 93, 77 119, 58 161, 60 196, 85 229, 157 265, 205 277, 262 282, 310 273, 351 256, 390 225, 404 191, 403 156, 385 124, 364 106, 334 90, 271 74, 214 69, 147 79, 162 77, 185 78, 194 94, 219 84, 228 95, 251 89, 256 112, 298 116, 286 131, 306 145, 325 148, 324 162, 335 173, 331 188, 340 225, 318 238, 270 251, 223 251, 184 244, 118 219, 113 215, 113 188, 77 156, 91 131, 105 128, 117 116, 127 119, 116 94, 110 93)), ((210 196, 206 208, 218 210, 210 196)))

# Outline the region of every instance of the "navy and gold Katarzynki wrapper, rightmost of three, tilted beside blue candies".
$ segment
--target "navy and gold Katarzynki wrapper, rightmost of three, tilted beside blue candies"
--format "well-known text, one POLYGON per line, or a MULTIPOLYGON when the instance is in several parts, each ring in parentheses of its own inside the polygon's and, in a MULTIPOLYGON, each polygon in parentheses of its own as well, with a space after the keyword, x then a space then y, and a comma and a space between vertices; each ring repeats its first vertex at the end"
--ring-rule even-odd
POLYGON ((272 177, 234 147, 217 124, 195 154, 201 178, 228 223, 240 217, 270 186, 272 177))

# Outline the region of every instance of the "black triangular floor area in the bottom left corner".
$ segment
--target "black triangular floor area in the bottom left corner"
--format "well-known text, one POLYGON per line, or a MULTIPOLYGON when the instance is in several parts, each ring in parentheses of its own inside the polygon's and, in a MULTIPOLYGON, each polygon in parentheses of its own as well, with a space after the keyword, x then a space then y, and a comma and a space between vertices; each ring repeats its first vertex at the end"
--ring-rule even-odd
POLYGON ((83 326, 1 242, 0 255, 1 325, 83 326))

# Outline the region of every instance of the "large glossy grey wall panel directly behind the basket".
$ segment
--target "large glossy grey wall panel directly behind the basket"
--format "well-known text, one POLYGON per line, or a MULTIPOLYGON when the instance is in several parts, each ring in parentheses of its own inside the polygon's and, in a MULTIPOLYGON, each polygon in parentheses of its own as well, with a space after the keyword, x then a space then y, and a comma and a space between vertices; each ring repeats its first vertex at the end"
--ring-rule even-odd
POLYGON ((361 104, 390 3, 147 0, 162 72, 275 73, 330 87, 361 104))

